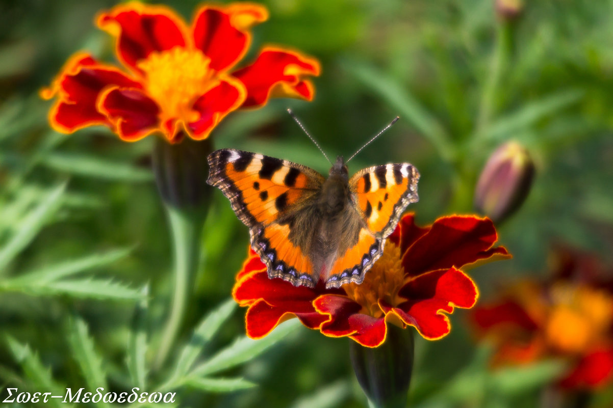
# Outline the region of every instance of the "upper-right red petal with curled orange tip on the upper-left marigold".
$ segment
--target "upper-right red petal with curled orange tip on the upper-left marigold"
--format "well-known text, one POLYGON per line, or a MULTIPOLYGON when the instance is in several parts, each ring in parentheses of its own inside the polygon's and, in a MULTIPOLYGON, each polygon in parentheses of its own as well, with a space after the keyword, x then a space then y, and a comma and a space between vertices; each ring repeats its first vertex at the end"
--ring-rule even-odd
POLYGON ((192 25, 194 46, 211 59, 211 69, 230 68, 249 48, 251 34, 246 30, 267 18, 267 10, 258 4, 204 6, 196 12, 192 25))

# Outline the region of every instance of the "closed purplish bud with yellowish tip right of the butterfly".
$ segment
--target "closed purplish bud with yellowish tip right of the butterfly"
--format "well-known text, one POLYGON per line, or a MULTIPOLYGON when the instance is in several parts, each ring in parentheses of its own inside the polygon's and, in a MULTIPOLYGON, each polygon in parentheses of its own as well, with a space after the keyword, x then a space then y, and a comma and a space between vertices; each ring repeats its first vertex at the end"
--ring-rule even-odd
POLYGON ((494 151, 479 176, 474 193, 477 211, 501 222, 528 197, 535 166, 527 149, 508 142, 494 151))

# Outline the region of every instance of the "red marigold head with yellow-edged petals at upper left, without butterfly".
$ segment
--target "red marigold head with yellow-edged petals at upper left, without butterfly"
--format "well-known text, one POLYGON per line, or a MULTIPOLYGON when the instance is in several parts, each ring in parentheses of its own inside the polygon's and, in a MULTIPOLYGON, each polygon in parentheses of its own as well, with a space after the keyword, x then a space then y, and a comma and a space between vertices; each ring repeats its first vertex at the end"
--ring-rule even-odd
POLYGON ((45 99, 57 97, 51 126, 70 133, 106 125, 128 142, 161 132, 171 143, 185 133, 202 140, 238 108, 256 108, 269 97, 312 100, 306 77, 319 63, 296 51, 265 47, 256 60, 235 69, 251 43, 252 26, 268 18, 264 6, 234 3, 200 7, 189 26, 172 9, 138 2, 97 18, 116 38, 124 70, 87 53, 69 58, 45 99))

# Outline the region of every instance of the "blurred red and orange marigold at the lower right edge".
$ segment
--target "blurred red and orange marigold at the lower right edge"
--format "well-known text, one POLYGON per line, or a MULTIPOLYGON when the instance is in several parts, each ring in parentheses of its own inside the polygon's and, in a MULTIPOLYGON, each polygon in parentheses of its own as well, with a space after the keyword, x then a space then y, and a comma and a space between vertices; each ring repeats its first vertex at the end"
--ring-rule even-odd
POLYGON ((613 281, 593 256, 563 248, 555 260, 551 279, 508 287, 473 320, 497 346, 494 365, 562 357, 571 362, 562 387, 603 387, 613 381, 613 281))

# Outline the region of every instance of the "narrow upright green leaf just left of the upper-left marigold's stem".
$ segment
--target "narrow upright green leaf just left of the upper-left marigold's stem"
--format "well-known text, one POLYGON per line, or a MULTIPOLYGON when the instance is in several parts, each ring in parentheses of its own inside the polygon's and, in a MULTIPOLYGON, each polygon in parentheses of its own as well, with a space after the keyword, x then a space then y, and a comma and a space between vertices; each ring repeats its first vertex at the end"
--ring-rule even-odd
POLYGON ((128 339, 128 355, 126 364, 132 383, 141 390, 147 383, 147 312, 149 308, 149 285, 142 289, 142 300, 134 309, 132 330, 128 339))

